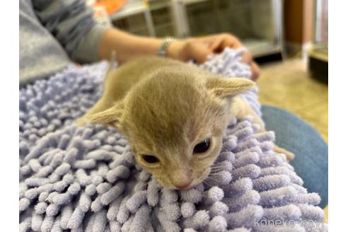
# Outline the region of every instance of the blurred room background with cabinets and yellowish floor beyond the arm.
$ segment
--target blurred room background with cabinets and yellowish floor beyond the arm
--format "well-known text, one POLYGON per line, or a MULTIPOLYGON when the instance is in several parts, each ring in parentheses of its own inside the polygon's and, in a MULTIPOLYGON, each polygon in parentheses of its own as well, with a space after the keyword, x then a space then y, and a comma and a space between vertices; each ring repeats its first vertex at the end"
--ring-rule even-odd
POLYGON ((261 103, 295 113, 328 142, 327 1, 87 2, 95 8, 95 18, 100 23, 137 35, 178 38, 223 32, 236 35, 260 64, 257 84, 261 103))

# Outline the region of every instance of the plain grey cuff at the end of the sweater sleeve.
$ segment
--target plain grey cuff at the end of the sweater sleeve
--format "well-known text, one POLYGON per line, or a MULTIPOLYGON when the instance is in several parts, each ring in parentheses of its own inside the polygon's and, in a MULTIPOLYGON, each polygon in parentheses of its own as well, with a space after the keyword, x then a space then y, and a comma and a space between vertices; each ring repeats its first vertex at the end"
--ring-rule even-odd
POLYGON ((97 62, 99 60, 98 48, 100 40, 108 29, 110 27, 95 23, 93 28, 81 39, 72 59, 81 63, 97 62))

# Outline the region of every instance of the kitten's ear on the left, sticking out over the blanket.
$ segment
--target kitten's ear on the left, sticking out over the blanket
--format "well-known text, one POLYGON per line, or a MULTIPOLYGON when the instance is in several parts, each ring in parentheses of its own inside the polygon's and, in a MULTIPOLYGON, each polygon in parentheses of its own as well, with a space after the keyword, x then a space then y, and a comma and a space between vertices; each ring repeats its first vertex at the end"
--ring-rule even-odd
POLYGON ((91 124, 103 124, 111 127, 119 127, 123 112, 124 103, 120 101, 115 103, 111 108, 108 108, 108 110, 88 116, 87 121, 91 124))

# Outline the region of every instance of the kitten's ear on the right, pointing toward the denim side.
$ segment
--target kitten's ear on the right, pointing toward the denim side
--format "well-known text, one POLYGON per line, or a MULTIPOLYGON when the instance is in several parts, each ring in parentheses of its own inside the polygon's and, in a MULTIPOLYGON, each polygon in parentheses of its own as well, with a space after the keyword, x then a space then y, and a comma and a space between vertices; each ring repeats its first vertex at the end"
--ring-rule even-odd
POLYGON ((214 91, 214 94, 221 98, 234 97, 245 91, 253 90, 255 83, 245 78, 231 77, 223 79, 220 76, 214 76, 207 80, 207 88, 214 91))

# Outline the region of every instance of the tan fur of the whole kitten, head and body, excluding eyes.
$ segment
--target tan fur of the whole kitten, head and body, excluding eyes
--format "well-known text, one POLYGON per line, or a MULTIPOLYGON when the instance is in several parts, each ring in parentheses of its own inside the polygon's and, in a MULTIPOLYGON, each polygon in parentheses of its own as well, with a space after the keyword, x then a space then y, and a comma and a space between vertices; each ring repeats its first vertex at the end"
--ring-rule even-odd
MULTIPOLYGON (((222 79, 173 59, 142 57, 109 71, 102 98, 78 124, 108 124, 123 132, 137 163, 170 189, 197 185, 221 151, 231 117, 253 115, 240 93, 254 88, 248 79, 222 79), (209 149, 192 153, 210 138, 209 149), (156 156, 147 163, 143 154, 156 156)), ((291 154, 291 153, 290 153, 291 154)))

